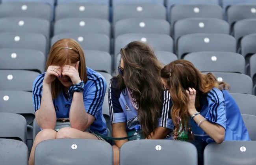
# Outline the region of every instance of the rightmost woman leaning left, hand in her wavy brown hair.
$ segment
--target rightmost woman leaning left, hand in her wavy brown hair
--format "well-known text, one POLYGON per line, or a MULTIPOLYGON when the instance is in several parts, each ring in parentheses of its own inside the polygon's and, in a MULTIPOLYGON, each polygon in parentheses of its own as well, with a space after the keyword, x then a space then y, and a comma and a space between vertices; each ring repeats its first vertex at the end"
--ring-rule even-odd
POLYGON ((171 116, 191 128, 198 149, 198 162, 208 143, 227 140, 250 140, 236 101, 225 82, 217 82, 212 73, 203 74, 184 59, 175 60, 161 69, 163 84, 169 88, 173 106, 171 116))

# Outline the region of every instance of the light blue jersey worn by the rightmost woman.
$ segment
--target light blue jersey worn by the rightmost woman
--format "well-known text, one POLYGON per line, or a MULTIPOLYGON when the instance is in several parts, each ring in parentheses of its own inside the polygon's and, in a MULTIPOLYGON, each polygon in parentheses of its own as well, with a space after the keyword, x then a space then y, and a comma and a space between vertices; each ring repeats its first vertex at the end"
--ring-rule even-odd
MULTIPOLYGON (((207 95, 201 96, 200 106, 202 107, 200 115, 211 123, 221 125, 226 130, 224 141, 250 140, 236 101, 228 91, 213 88, 207 95)), ((214 142, 193 119, 189 120, 189 124, 196 140, 214 142)))

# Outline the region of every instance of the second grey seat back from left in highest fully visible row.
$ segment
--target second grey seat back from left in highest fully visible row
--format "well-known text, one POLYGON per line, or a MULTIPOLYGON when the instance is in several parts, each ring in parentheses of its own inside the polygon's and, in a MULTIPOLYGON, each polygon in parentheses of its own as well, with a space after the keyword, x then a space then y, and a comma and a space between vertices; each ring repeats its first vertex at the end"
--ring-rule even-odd
MULTIPOLYGON (((74 2, 74 1, 72 1, 74 2)), ((58 4, 55 9, 55 21, 64 18, 97 18, 109 19, 109 6, 107 4, 81 3, 58 4)))

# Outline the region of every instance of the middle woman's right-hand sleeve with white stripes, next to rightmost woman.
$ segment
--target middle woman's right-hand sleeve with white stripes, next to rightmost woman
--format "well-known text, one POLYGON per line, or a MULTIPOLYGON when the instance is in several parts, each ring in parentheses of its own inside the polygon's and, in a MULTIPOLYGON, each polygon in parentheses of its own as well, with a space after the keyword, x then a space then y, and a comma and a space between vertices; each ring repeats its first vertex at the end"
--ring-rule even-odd
POLYGON ((172 106, 171 95, 168 91, 164 91, 163 95, 163 108, 161 111, 161 117, 158 119, 158 126, 173 130, 174 124, 170 113, 172 106))

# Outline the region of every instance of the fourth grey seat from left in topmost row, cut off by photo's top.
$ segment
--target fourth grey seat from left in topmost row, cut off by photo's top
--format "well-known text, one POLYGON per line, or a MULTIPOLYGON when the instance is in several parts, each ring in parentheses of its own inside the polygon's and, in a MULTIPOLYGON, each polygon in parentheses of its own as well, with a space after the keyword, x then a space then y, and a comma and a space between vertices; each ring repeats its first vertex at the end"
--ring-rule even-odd
POLYGON ((170 9, 176 4, 215 4, 219 5, 219 0, 166 0, 167 20, 170 22, 170 9))

